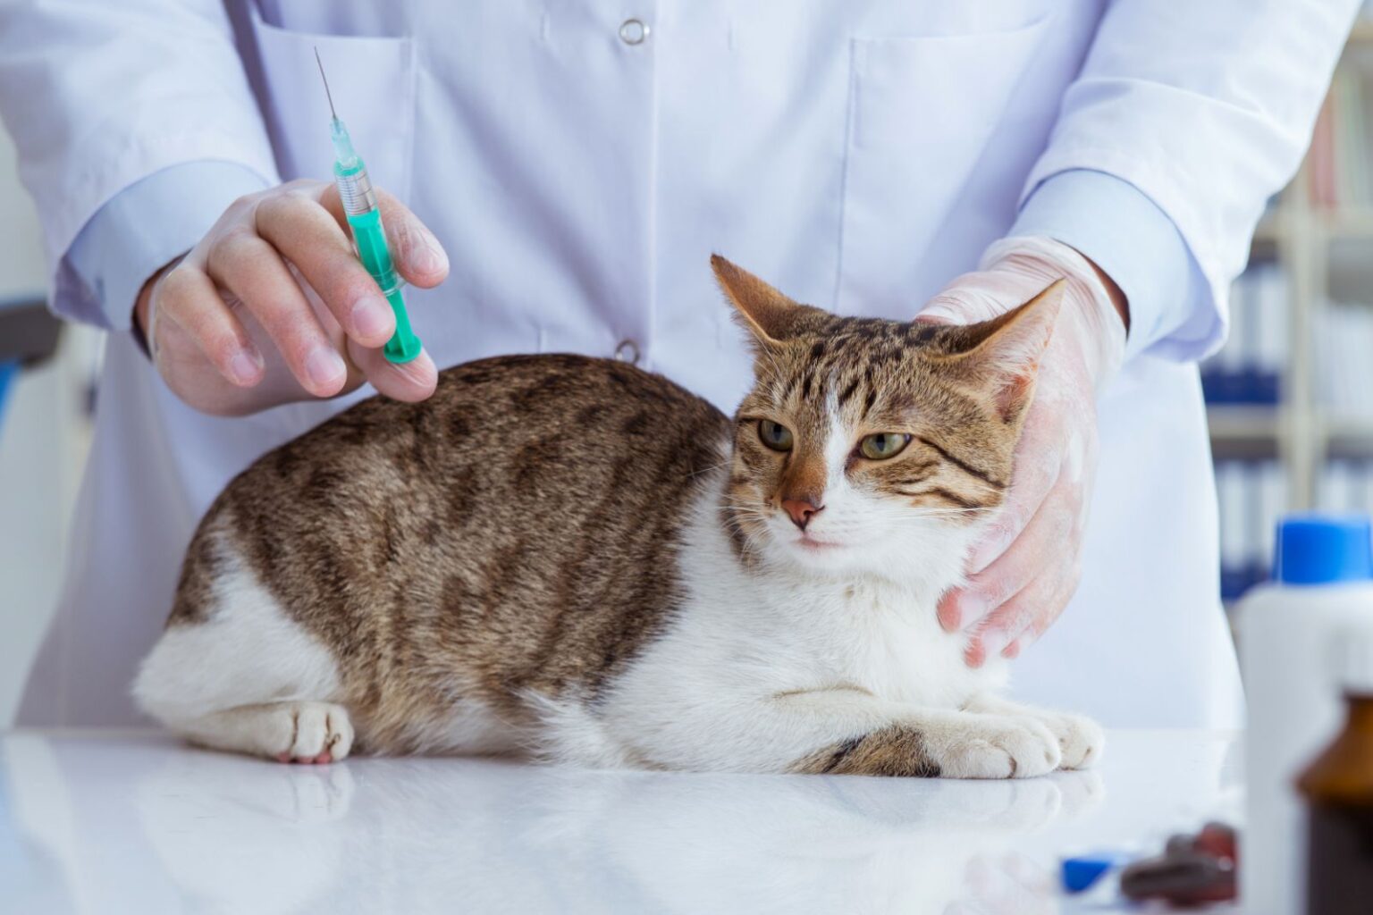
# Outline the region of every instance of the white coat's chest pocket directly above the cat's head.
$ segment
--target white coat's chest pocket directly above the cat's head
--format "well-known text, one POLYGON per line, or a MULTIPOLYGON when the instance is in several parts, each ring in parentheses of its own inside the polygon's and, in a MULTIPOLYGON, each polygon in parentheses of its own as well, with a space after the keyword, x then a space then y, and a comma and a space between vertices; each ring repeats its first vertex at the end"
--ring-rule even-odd
POLYGON ((1049 21, 853 40, 840 313, 914 314, 919 302, 898 299, 1009 114, 1049 21))

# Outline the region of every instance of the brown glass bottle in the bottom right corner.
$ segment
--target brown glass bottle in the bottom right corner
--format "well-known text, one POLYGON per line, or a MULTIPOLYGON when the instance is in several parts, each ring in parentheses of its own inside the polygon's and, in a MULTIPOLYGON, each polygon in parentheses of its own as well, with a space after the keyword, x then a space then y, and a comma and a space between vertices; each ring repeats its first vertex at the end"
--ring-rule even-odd
POLYGON ((1297 779, 1307 804, 1307 915, 1373 912, 1373 690, 1344 698, 1344 730, 1297 779))

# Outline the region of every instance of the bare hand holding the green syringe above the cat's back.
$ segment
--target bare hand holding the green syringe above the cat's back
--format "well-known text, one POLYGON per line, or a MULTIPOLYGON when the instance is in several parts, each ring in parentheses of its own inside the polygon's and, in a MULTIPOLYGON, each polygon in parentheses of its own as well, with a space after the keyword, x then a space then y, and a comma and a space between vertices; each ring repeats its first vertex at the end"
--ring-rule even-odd
MULTIPOLYGON (((448 255, 434 235, 395 198, 378 198, 401 276, 442 283, 448 255)), ((148 280, 135 320, 168 387, 206 413, 254 413, 364 381, 423 401, 438 383, 427 353, 404 365, 382 355, 395 317, 325 181, 235 200, 189 254, 148 280)))

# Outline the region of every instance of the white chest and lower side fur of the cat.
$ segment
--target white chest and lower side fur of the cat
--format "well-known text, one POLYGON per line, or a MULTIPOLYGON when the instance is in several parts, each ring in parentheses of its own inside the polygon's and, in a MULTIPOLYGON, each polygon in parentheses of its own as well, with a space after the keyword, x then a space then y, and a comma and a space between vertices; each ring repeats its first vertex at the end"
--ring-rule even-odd
POLYGON ((684 551, 681 610, 633 665, 625 694, 708 702, 847 686, 910 706, 961 708, 1005 679, 1004 664, 969 668, 967 637, 939 626, 935 602, 957 578, 964 546, 925 551, 917 580, 839 579, 746 568, 707 527, 684 551))

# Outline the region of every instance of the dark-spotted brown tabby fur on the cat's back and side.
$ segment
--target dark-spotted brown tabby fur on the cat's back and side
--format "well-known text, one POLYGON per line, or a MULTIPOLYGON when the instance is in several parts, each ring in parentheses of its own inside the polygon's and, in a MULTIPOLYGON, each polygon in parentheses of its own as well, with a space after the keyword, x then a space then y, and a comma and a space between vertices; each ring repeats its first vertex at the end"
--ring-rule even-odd
MULTIPOLYGON (((707 402, 622 362, 483 359, 424 403, 372 398, 264 455, 202 532, 231 532, 332 649, 368 746, 422 749, 456 672, 519 720, 520 691, 595 694, 652 638, 676 599, 673 535, 728 435, 707 402)), ((202 612, 207 542, 173 626, 202 612)))

